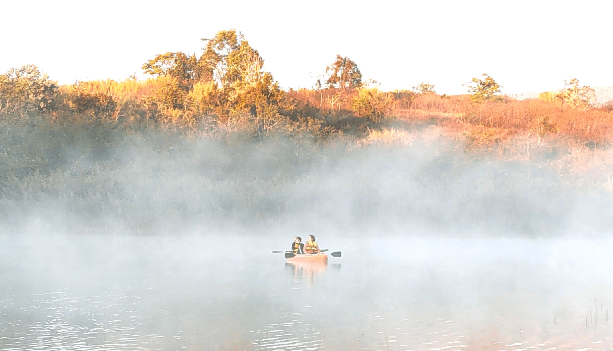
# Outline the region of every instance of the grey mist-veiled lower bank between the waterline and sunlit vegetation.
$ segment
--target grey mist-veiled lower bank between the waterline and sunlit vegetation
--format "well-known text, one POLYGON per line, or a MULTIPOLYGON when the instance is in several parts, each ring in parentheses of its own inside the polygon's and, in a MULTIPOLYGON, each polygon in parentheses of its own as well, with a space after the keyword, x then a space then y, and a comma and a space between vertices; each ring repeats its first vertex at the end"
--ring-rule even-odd
MULTIPOLYGON (((259 141, 240 133, 6 128, 0 222, 15 233, 610 231, 611 168, 601 159, 577 172, 568 153, 504 160, 470 151, 435 126, 395 130, 322 144, 283 134, 259 141)), ((604 159, 608 151, 600 152, 604 159)))

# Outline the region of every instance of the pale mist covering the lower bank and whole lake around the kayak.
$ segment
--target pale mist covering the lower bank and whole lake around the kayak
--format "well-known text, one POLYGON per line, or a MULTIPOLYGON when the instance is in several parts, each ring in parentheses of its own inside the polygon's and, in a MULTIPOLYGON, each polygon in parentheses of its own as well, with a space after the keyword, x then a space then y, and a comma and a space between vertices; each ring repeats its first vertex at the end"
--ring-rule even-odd
POLYGON ((612 347, 608 164, 96 137, 3 145, 2 350, 612 347), (308 234, 343 257, 270 253, 308 234))

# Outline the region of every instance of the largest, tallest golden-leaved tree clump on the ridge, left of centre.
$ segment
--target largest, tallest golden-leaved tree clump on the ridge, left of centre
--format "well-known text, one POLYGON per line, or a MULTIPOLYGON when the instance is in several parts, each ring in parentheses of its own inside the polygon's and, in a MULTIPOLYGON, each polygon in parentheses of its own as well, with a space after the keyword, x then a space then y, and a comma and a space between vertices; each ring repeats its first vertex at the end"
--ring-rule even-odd
MULTIPOLYGON (((151 102, 167 114, 215 115, 229 125, 232 116, 253 117, 259 136, 278 125, 284 95, 264 60, 235 29, 219 31, 195 54, 166 53, 143 65, 145 73, 158 75, 151 102)), ((244 118, 242 120, 245 120, 244 118)))

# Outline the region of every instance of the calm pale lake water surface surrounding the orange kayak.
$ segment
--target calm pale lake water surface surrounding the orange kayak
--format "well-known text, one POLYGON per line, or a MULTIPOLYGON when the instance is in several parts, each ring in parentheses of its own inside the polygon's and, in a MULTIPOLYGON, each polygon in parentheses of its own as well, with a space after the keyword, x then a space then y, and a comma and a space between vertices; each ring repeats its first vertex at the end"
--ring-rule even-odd
POLYGON ((0 349, 613 349, 611 241, 291 239, 2 236, 0 349))

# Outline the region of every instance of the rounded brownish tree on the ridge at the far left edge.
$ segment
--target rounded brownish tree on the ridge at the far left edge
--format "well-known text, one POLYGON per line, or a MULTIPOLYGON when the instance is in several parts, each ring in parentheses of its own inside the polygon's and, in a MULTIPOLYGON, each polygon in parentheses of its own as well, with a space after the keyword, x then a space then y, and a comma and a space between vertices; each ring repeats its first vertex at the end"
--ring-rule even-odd
POLYGON ((56 106, 58 86, 34 64, 0 75, 0 113, 44 112, 56 106))

